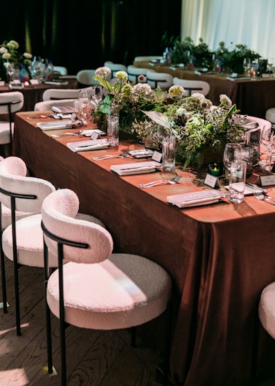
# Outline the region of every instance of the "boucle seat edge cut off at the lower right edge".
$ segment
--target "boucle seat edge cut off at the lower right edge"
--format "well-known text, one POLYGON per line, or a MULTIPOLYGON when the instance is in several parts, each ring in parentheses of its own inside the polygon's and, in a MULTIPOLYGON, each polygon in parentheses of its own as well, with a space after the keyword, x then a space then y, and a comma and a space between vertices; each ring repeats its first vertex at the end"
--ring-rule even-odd
POLYGON ((263 328, 275 339, 275 281, 263 289, 259 303, 263 328))

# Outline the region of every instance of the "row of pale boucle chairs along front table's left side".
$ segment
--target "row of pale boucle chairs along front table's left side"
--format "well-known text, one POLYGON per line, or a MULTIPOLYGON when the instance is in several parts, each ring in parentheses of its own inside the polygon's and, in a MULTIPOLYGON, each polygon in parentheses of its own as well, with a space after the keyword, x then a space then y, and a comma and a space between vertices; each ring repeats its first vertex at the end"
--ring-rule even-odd
MULTIPOLYGON (((20 158, 0 161, 3 311, 8 312, 5 256, 14 264, 17 335, 21 335, 19 266, 44 267, 48 372, 53 371, 52 312, 60 319, 65 386, 65 325, 135 328, 169 311, 171 279, 164 268, 145 257, 113 254, 111 234, 100 219, 79 213, 76 193, 56 190, 50 182, 27 173, 20 158)), ((164 385, 168 385, 169 332, 167 324, 164 385)), ((134 334, 131 343, 135 344, 134 334)))

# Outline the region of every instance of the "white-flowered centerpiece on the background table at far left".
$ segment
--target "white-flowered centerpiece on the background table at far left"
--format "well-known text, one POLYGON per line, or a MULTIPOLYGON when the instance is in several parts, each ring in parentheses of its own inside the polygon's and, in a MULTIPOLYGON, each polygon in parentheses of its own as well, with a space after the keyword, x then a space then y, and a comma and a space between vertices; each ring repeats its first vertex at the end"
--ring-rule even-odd
POLYGON ((26 69, 28 69, 28 66, 32 64, 31 59, 32 54, 19 51, 19 43, 17 43, 17 41, 3 41, 0 45, 0 67, 2 70, 2 77, 5 76, 5 70, 10 63, 13 63, 14 65, 25 65, 26 69))

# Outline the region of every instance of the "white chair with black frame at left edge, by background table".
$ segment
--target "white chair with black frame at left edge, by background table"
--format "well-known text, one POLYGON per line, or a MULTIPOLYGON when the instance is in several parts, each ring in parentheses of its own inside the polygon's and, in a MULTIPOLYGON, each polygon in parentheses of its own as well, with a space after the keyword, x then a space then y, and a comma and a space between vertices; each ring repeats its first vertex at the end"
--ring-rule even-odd
POLYGON ((8 120, 0 120, 0 144, 10 145, 12 153, 13 113, 22 109, 24 96, 21 92, 0 93, 0 114, 7 114, 8 120))

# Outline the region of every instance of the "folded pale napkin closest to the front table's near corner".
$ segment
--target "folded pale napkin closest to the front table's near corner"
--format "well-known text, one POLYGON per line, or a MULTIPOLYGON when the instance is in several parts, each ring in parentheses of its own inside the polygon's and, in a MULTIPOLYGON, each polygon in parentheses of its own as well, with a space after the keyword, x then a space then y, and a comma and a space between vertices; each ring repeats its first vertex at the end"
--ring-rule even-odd
POLYGON ((179 208, 188 208, 190 206, 209 205, 219 202, 225 194, 214 189, 207 191, 197 191, 177 195, 168 195, 167 202, 179 206, 179 208))

